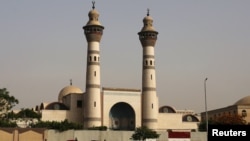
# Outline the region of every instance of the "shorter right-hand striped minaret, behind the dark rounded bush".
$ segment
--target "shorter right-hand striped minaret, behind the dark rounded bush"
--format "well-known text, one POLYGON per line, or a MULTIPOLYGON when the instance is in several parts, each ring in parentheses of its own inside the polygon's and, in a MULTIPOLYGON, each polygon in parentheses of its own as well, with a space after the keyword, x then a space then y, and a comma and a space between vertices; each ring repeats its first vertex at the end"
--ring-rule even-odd
POLYGON ((157 129, 158 97, 156 94, 155 53, 154 46, 158 32, 153 27, 153 19, 147 16, 143 19, 143 28, 138 33, 143 48, 142 59, 142 126, 157 129))

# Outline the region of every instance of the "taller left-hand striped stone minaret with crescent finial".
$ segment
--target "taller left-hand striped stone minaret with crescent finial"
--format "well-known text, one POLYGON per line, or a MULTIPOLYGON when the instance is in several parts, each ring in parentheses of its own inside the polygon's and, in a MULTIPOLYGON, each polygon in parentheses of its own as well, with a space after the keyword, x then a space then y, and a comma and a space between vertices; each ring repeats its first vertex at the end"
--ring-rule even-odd
POLYGON ((88 42, 86 93, 84 94, 84 128, 102 125, 101 120, 101 86, 100 86, 100 41, 104 27, 98 21, 99 13, 95 2, 89 11, 89 21, 83 27, 88 42))

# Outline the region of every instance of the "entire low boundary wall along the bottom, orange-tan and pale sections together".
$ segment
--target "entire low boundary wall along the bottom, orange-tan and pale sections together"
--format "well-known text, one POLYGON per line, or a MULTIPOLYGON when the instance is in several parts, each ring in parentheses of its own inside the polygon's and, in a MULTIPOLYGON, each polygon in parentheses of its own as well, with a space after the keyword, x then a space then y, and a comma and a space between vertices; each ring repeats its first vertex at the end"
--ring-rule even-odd
MULTIPOLYGON (((0 141, 132 141, 134 131, 57 130, 0 128, 0 141)), ((168 141, 168 133, 158 132, 157 141, 168 141)), ((190 141, 207 141, 206 132, 191 132, 190 141)))

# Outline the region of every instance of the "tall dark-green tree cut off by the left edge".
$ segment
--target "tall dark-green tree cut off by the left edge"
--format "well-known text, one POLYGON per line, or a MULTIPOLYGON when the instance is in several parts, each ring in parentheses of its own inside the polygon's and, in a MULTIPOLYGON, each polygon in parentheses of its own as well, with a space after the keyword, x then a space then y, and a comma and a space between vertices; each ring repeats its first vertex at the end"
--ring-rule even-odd
POLYGON ((18 104, 18 100, 14 96, 10 96, 6 88, 0 89, 0 118, 4 118, 16 104, 18 104))

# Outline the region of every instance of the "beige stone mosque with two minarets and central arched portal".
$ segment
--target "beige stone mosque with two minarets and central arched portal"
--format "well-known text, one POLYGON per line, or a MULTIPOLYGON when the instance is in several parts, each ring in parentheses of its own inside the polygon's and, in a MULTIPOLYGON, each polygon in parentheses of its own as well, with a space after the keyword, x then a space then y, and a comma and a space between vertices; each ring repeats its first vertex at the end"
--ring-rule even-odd
POLYGON ((64 87, 58 101, 41 103, 36 111, 42 121, 63 121, 83 124, 85 129, 106 126, 108 130, 134 130, 147 126, 154 130, 198 130, 200 122, 192 110, 176 110, 171 106, 159 107, 156 91, 154 48, 158 32, 147 11, 143 27, 138 32, 143 49, 141 89, 108 88, 100 86, 100 41, 104 26, 93 7, 89 21, 83 26, 87 40, 87 66, 85 92, 72 85, 64 87))

